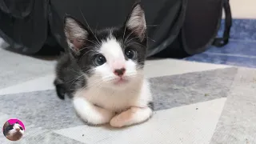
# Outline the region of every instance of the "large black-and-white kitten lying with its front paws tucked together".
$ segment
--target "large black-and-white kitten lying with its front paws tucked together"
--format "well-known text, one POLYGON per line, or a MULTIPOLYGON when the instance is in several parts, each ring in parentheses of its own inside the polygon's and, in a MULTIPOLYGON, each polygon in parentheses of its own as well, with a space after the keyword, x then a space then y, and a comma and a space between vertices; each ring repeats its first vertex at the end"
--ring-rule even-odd
POLYGON ((146 20, 138 2, 121 27, 92 32, 66 16, 66 42, 54 81, 59 98, 73 98, 74 109, 86 122, 130 126, 153 114, 150 85, 143 75, 146 20))

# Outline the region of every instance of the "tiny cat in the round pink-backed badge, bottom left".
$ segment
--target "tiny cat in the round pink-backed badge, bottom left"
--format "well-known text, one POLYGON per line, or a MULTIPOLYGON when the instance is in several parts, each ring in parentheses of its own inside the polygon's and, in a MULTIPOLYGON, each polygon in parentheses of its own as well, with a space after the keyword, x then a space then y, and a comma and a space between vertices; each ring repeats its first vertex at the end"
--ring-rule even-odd
POLYGON ((6 122, 3 126, 3 134, 10 141, 18 141, 20 138, 22 138, 24 129, 21 125, 18 124, 18 122, 12 125, 10 125, 9 122, 6 122))

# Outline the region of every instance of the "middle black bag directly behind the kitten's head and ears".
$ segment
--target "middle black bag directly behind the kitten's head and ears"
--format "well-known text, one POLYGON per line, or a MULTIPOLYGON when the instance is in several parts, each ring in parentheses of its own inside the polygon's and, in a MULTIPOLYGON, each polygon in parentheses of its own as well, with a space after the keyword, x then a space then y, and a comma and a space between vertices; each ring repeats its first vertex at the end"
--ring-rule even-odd
MULTIPOLYGON (((51 32, 66 48, 62 30, 62 18, 65 14, 74 16, 85 25, 88 23, 92 29, 118 26, 125 22, 136 1, 138 0, 74 0, 72 2, 50 0, 51 32)), ((179 34, 186 16, 187 0, 141 0, 141 2, 146 13, 148 56, 150 56, 166 49, 179 34), (166 45, 166 41, 169 44, 166 45)))

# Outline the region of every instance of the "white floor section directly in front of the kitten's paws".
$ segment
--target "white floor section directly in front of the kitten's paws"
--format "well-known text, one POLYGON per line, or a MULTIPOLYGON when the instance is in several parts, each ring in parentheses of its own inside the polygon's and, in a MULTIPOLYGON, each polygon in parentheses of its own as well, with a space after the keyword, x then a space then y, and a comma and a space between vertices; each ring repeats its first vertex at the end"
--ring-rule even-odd
POLYGON ((85 125, 54 132, 86 144, 207 144, 225 102, 219 98, 157 111, 148 122, 122 130, 85 125))

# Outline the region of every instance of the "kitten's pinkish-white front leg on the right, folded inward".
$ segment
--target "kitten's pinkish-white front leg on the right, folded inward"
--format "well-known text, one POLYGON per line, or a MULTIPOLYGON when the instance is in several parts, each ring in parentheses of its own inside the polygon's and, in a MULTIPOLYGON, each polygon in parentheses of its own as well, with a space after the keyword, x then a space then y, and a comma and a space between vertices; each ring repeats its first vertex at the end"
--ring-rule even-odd
POLYGON ((134 125, 145 122, 152 114, 153 110, 150 106, 144 108, 133 106, 130 109, 123 111, 121 114, 114 116, 114 118, 110 120, 110 125, 114 127, 134 125))

